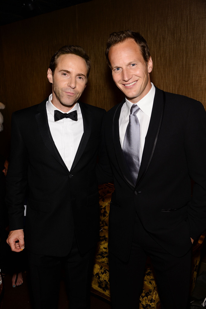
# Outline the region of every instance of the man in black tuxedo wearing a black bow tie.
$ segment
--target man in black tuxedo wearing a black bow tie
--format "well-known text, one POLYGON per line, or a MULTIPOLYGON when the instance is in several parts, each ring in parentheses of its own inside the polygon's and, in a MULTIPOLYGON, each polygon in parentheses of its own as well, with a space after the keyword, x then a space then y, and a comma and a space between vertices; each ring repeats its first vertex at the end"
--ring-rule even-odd
POLYGON ((52 94, 12 115, 7 172, 13 251, 24 249, 24 198, 28 188, 25 248, 34 308, 57 308, 62 262, 70 308, 89 308, 94 248, 99 235, 95 173, 105 110, 79 102, 90 71, 80 46, 51 58, 52 94))

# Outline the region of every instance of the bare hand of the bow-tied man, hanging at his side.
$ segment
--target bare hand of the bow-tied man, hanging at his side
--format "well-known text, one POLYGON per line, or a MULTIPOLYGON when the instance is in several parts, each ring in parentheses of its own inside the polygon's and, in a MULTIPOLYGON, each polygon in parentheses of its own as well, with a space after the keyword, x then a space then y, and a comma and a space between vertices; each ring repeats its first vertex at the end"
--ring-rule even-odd
POLYGON ((6 242, 10 245, 11 250, 20 252, 24 249, 24 231, 15 230, 10 231, 6 242))

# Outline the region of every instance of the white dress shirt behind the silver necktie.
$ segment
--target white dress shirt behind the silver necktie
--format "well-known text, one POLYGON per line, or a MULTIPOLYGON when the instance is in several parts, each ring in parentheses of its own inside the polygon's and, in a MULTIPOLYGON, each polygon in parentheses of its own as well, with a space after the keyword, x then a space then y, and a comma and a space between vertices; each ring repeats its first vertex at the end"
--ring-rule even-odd
MULTIPOLYGON (((139 120, 140 126, 140 162, 142 159, 142 153, 144 149, 145 137, 147 135, 149 121, 152 113, 152 106, 155 95, 155 87, 151 83, 152 88, 150 91, 136 103, 139 106, 139 111, 137 112, 137 118, 139 120)), ((123 146, 124 137, 129 123, 130 109, 133 103, 125 98, 126 102, 122 105, 120 117, 119 117, 119 139, 121 146, 123 146)))

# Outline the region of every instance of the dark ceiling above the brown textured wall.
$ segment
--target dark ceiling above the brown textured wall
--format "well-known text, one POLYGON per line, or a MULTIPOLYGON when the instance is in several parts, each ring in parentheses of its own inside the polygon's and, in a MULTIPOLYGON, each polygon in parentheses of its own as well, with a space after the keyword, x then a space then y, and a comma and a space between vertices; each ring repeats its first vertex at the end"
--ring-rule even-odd
POLYGON ((0 0, 0 26, 89 0, 0 0))

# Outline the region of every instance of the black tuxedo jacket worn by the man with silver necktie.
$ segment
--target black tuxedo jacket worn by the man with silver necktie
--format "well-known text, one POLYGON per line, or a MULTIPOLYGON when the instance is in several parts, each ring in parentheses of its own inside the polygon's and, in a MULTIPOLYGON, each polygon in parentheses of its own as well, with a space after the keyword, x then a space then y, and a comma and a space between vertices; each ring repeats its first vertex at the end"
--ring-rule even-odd
POLYGON ((129 258, 135 213, 167 252, 183 256, 206 229, 206 113, 203 105, 156 88, 136 185, 119 141, 123 103, 107 112, 97 173, 114 180, 109 249, 129 258), (191 178, 195 181, 191 198, 191 178))

